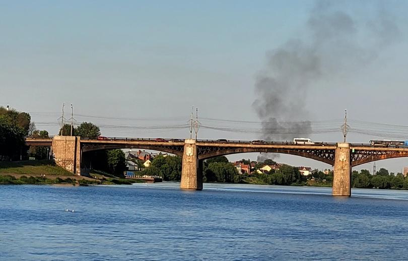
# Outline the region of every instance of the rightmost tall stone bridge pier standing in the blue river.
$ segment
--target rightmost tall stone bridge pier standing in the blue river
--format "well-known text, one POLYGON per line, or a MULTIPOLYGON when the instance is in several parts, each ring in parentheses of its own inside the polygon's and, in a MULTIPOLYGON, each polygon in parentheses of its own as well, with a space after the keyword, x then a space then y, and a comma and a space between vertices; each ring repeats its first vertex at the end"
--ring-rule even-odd
POLYGON ((351 196, 351 156, 349 143, 337 143, 333 168, 332 195, 351 196))

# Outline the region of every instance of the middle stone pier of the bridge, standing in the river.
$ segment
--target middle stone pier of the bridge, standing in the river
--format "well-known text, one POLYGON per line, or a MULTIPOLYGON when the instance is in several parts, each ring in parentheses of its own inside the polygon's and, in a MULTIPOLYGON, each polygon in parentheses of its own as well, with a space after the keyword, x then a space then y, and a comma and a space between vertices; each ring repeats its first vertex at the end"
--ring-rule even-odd
POLYGON ((182 159, 180 188, 184 189, 202 189, 202 172, 198 171, 197 146, 195 140, 185 140, 184 153, 182 159))

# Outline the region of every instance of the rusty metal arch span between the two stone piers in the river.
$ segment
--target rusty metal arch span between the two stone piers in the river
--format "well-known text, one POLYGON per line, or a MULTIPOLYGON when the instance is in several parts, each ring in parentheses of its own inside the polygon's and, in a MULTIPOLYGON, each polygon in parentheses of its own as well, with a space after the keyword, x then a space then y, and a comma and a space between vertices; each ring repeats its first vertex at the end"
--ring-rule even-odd
POLYGON ((270 148, 227 148, 213 152, 198 154, 198 160, 206 160, 217 156, 225 156, 238 153, 249 152, 264 152, 264 153, 280 153, 300 156, 334 165, 334 149, 322 150, 307 150, 307 149, 270 149, 270 148))

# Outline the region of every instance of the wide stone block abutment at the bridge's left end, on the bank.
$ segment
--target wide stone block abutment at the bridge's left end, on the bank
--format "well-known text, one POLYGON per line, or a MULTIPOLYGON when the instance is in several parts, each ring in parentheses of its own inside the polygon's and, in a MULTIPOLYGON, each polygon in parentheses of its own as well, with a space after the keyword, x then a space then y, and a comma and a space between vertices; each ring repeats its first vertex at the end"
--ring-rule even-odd
POLYGON ((54 136, 52 155, 55 163, 67 171, 81 175, 81 144, 80 137, 54 136))

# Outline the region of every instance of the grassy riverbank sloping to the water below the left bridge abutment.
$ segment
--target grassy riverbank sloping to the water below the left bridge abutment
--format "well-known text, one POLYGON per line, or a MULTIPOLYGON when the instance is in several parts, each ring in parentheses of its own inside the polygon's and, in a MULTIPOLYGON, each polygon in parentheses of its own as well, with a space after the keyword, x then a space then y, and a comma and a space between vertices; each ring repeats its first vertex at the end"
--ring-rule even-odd
POLYGON ((90 177, 75 175, 47 160, 0 162, 0 184, 111 185, 141 182, 99 171, 91 172, 90 175, 90 177))

